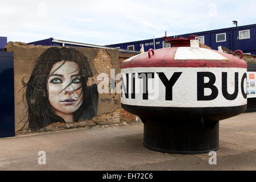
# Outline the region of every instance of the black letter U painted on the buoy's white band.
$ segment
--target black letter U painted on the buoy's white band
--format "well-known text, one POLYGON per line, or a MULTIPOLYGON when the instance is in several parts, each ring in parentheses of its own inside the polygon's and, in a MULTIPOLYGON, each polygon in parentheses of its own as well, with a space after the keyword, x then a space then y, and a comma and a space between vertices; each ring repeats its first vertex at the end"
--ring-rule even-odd
POLYGON ((234 93, 229 94, 228 93, 228 73, 227 72, 222 72, 222 94, 227 100, 234 100, 237 98, 238 94, 238 72, 235 73, 235 78, 234 78, 234 93))

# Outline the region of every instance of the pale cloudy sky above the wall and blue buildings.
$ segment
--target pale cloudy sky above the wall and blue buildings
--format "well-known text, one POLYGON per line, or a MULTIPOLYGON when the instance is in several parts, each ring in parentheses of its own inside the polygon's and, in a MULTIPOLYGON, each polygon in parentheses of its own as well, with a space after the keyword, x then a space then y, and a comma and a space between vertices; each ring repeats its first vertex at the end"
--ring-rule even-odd
POLYGON ((2 1, 0 36, 114 44, 256 23, 256 1, 2 1))

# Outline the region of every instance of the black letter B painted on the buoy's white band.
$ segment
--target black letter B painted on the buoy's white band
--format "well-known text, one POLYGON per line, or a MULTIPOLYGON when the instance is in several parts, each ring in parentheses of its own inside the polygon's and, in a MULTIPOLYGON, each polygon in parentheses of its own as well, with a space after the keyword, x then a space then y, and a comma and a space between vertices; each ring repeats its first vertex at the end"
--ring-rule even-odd
POLYGON ((213 84, 216 77, 212 72, 197 72, 197 101, 210 101, 218 96, 218 89, 213 84), (209 82, 204 82, 204 77, 209 78, 209 82), (212 93, 209 96, 204 95, 204 88, 209 88, 212 93))

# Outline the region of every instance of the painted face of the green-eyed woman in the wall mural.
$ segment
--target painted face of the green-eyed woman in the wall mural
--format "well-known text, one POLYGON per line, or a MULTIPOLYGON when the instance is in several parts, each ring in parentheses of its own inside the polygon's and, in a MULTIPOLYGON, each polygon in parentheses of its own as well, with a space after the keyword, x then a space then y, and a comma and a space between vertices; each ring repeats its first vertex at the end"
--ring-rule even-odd
POLYGON ((83 101, 81 76, 77 63, 63 63, 55 63, 49 73, 48 100, 55 113, 72 114, 83 101))

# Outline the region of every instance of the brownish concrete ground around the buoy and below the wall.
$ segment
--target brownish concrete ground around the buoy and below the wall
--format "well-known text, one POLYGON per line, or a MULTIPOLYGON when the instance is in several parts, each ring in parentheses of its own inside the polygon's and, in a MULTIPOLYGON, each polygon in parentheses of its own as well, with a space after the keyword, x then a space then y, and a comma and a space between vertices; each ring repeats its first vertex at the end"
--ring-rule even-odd
POLYGON ((255 170, 256 112, 220 121, 216 165, 208 154, 164 154, 142 141, 143 123, 1 138, 0 170, 255 170))

